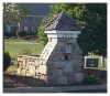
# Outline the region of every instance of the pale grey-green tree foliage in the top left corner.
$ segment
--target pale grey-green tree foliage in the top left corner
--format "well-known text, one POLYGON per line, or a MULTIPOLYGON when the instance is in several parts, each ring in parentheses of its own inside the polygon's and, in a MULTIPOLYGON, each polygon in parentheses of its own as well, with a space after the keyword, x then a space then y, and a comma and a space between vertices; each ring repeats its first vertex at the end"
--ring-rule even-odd
POLYGON ((13 24, 24 19, 29 13, 20 3, 3 3, 3 24, 13 24))

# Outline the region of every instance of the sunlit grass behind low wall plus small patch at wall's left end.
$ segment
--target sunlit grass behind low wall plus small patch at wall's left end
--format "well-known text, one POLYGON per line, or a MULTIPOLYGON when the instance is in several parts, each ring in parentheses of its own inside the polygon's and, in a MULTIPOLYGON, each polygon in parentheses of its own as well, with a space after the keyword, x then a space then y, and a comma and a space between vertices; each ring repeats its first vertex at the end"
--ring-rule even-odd
MULTIPOLYGON (((30 43, 21 39, 4 39, 4 50, 6 52, 9 52, 11 58, 13 57, 15 58, 24 50, 31 51, 32 54, 41 54, 43 49, 44 45, 40 42, 30 43)), ((16 71, 16 66, 14 64, 8 67, 7 70, 7 72, 15 72, 15 71, 16 71)))

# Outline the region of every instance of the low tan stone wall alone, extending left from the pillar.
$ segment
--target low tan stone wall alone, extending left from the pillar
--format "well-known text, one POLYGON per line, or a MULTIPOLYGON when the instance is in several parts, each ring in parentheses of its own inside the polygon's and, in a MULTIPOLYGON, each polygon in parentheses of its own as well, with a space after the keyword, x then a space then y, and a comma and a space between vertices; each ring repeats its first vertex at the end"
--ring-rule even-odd
POLYGON ((38 57, 22 55, 18 57, 18 75, 35 76, 38 57))

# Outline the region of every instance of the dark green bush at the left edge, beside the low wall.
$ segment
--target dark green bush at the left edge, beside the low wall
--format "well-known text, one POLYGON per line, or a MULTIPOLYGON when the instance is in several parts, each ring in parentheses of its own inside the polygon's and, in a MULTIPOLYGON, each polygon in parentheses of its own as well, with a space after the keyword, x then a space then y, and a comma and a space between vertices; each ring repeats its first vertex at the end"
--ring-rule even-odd
POLYGON ((7 71, 10 64, 11 64, 11 56, 8 52, 4 52, 3 53, 3 72, 7 71))

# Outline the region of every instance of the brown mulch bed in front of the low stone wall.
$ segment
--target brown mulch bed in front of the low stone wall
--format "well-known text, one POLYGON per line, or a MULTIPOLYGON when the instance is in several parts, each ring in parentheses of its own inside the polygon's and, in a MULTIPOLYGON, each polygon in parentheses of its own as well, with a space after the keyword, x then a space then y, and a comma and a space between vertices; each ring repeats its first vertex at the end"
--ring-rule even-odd
POLYGON ((44 82, 41 82, 33 77, 18 76, 13 73, 3 74, 3 88, 36 87, 36 86, 44 86, 44 82))

